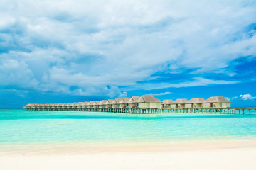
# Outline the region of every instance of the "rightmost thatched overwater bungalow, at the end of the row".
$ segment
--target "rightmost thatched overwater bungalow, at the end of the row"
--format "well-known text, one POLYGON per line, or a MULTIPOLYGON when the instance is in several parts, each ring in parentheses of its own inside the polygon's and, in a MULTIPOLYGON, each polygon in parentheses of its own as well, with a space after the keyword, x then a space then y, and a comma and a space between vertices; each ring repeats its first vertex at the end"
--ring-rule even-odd
POLYGON ((222 96, 210 97, 203 102, 203 108, 230 108, 230 103, 222 96))

